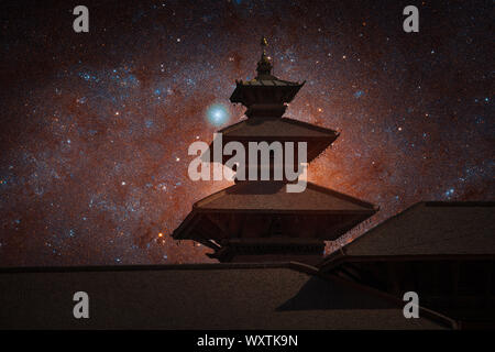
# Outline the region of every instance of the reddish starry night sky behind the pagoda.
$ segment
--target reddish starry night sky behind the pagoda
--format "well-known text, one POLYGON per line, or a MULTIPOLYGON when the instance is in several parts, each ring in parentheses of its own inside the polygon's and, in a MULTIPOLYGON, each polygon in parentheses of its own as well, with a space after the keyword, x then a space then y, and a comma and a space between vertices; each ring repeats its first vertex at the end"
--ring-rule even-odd
POLYGON ((170 233, 231 184, 191 182, 187 148, 245 119, 229 97, 262 35, 274 74, 307 80, 286 117, 341 132, 308 179, 381 207, 341 241, 420 200, 494 199, 493 1, 0 7, 0 266, 210 262, 170 233))

